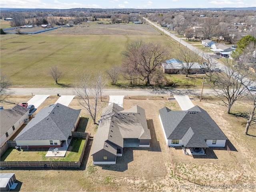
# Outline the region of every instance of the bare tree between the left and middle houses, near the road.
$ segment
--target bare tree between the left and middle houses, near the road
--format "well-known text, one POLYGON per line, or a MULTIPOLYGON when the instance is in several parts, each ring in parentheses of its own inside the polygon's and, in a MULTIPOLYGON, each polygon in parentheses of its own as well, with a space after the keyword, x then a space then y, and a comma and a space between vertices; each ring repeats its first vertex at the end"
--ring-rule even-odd
POLYGON ((104 107, 99 99, 105 86, 106 80, 102 72, 97 72, 97 74, 86 72, 78 77, 74 85, 79 104, 90 114, 93 123, 97 125, 97 112, 104 107))

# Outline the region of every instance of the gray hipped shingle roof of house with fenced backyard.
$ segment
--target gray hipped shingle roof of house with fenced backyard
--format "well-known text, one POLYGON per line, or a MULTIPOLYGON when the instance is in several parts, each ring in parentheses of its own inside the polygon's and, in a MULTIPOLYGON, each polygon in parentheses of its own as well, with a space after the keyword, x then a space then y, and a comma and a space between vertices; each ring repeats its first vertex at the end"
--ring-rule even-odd
POLYGON ((67 140, 80 111, 59 103, 45 107, 14 140, 67 140))

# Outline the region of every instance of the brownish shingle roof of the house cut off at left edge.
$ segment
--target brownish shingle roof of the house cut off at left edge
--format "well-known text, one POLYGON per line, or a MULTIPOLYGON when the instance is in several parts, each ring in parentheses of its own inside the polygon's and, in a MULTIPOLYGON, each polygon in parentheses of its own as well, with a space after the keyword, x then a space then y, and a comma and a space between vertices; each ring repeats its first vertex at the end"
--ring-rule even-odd
POLYGON ((20 119, 28 108, 16 105, 9 109, 0 110, 0 132, 1 137, 20 119))

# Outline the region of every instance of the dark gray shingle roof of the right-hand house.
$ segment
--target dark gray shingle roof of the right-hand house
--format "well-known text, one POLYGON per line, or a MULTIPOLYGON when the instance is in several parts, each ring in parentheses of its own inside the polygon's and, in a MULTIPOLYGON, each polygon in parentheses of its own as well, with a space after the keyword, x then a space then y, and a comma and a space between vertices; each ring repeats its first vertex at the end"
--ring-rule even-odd
POLYGON ((185 139, 189 145, 203 145, 202 141, 210 139, 227 139, 210 115, 199 106, 186 111, 172 111, 164 107, 159 114, 167 139, 185 139))

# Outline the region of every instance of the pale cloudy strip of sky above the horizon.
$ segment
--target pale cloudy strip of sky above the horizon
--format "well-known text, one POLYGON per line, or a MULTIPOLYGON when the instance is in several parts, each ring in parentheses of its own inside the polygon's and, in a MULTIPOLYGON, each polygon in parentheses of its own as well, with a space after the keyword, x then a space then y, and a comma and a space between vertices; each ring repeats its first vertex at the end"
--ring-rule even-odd
POLYGON ((1 0, 0 8, 242 8, 256 0, 1 0))

